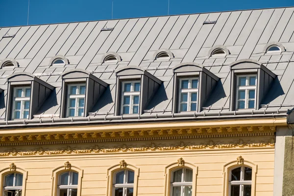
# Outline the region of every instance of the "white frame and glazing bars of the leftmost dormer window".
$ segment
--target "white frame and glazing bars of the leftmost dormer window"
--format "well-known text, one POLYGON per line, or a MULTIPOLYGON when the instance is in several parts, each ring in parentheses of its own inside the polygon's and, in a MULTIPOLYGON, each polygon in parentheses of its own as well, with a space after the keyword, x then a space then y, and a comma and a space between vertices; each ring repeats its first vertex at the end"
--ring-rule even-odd
POLYGON ((30 86, 23 86, 23 87, 14 87, 13 88, 13 104, 12 104, 12 120, 14 120, 14 112, 15 111, 20 111, 20 118, 19 119, 28 119, 28 118, 24 118, 24 112, 25 111, 28 111, 28 115, 29 115, 29 110, 30 110, 30 107, 28 109, 24 109, 25 107, 25 101, 29 101, 29 104, 30 104, 30 96, 29 97, 25 97, 25 89, 30 89, 30 95, 31 95, 31 87, 30 86), (22 89, 22 97, 19 98, 19 97, 16 97, 17 95, 17 90, 18 89, 22 89), (16 110, 15 109, 15 102, 16 101, 21 101, 21 109, 20 110, 16 110))

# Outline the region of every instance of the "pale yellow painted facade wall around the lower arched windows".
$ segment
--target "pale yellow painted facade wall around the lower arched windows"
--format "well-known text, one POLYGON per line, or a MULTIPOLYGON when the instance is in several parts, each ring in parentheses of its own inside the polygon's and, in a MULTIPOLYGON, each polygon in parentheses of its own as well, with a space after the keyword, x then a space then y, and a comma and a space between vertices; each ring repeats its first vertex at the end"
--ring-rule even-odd
POLYGON ((231 161, 237 164, 240 155, 257 165, 256 196, 272 196, 274 147, 9 156, 0 158, 0 168, 14 162, 28 172, 26 196, 50 196, 52 170, 70 161, 84 170, 81 195, 105 196, 107 169, 124 159, 140 169, 138 196, 163 196, 165 167, 182 157, 198 167, 197 196, 222 196, 223 165, 231 161))

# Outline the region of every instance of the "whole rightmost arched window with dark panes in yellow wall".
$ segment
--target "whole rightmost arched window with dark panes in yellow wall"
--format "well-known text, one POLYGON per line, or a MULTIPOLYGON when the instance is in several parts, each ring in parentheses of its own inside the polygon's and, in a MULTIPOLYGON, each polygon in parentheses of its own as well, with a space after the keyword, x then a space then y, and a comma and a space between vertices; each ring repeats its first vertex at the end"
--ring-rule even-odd
POLYGON ((238 167, 230 170, 229 196, 251 196, 252 169, 238 167))

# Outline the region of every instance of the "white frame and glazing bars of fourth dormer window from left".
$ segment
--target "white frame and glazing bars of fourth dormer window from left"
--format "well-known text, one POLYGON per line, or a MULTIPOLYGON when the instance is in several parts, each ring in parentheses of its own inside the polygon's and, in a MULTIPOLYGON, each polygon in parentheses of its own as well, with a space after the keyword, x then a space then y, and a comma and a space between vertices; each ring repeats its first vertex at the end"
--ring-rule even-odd
MULTIPOLYGON (((191 103, 196 103, 196 111, 192 112, 197 112, 197 107, 198 107, 198 89, 199 89, 199 77, 188 77, 188 78, 180 78, 179 81, 179 97, 178 97, 178 112, 191 112, 191 103), (198 80, 197 82, 197 88, 192 89, 192 80, 198 80), (188 89, 181 89, 182 87, 182 80, 189 80, 188 83, 188 89), (181 111, 181 94, 182 93, 188 93, 188 99, 187 99, 187 111, 181 111), (197 93, 197 100, 196 101, 191 101, 191 94, 192 93, 197 93)), ((183 102, 184 103, 184 102, 183 102)))

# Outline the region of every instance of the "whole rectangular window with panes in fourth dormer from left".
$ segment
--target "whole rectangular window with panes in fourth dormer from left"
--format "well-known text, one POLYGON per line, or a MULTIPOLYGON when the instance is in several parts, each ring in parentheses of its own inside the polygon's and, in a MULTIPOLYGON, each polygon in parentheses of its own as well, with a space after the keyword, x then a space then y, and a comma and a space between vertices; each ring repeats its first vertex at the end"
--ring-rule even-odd
POLYGON ((197 111, 198 78, 181 78, 179 89, 179 112, 197 111))

